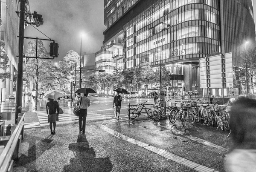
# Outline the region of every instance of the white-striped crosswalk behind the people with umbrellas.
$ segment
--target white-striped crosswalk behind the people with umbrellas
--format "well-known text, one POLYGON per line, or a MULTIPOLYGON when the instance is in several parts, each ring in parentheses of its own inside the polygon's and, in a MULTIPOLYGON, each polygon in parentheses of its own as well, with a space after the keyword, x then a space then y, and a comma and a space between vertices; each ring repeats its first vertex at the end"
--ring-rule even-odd
MULTIPOLYGON (((59 121, 57 124, 65 124, 65 123, 74 123, 79 121, 79 117, 73 114, 73 108, 62 108, 63 114, 59 114, 59 121)), ((31 128, 31 127, 41 127, 41 126, 49 126, 48 123, 48 115, 45 110, 37 111, 37 116, 39 122, 37 123, 25 123, 24 128, 31 128)), ((111 119, 112 117, 107 115, 102 115, 96 112, 87 111, 86 121, 89 120, 105 120, 111 119)))

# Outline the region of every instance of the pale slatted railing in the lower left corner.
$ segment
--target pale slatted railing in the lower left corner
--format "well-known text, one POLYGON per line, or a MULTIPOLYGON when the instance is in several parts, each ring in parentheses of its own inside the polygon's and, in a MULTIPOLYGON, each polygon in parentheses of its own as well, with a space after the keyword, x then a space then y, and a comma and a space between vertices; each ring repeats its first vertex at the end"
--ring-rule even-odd
MULTIPOLYGON (((0 149, 0 172, 9 172, 13 168, 13 159, 19 158, 19 149, 23 139, 25 113, 19 114, 18 124, 4 149, 0 149)), ((5 137, 5 136, 4 136, 5 137)), ((3 146, 0 146, 0 148, 3 146)))

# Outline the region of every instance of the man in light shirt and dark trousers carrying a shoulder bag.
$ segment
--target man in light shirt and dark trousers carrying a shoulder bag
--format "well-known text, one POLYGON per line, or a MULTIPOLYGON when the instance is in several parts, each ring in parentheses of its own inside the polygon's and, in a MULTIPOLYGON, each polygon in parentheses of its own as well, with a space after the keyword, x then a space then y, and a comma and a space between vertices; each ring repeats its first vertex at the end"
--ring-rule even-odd
POLYGON ((87 98, 88 93, 84 93, 84 96, 80 97, 79 100, 76 101, 76 104, 80 107, 80 115, 79 115, 79 133, 85 134, 85 122, 87 116, 87 108, 90 106, 90 99, 87 98), (80 103, 80 105, 79 105, 80 103))

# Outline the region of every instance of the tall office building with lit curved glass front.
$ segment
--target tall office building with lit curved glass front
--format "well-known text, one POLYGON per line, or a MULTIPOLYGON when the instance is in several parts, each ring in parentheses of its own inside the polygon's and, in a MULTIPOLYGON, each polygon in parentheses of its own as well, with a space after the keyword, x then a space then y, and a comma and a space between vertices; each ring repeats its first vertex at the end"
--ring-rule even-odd
POLYGON ((244 43, 255 45, 251 0, 105 0, 105 25, 103 47, 119 37, 125 70, 161 63, 178 95, 201 94, 200 58, 232 52, 241 66, 244 43))

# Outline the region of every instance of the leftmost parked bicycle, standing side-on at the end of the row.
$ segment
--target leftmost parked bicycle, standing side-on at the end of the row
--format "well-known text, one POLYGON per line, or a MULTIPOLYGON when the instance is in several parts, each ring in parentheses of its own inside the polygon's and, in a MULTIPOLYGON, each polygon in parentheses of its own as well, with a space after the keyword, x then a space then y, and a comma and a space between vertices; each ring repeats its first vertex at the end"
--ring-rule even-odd
POLYGON ((152 110, 148 109, 145 107, 145 103, 141 103, 141 104, 136 104, 136 105, 130 105, 130 108, 128 109, 127 115, 129 118, 134 119, 137 116, 140 116, 141 113, 146 113, 148 115, 148 117, 152 117, 152 110), (144 109, 144 112, 142 112, 142 110, 144 109))

